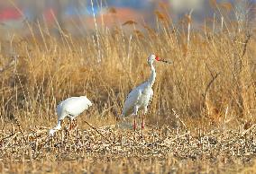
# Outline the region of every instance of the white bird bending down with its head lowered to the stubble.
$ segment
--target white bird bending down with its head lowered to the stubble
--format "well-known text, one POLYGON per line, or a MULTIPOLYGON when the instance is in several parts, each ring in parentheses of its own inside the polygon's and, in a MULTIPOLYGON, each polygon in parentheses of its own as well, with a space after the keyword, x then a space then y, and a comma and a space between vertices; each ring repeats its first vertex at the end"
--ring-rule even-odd
POLYGON ((70 119, 70 129, 72 129, 72 121, 84 110, 92 106, 92 102, 86 96, 70 97, 63 100, 57 106, 58 123, 57 126, 50 129, 49 134, 54 135, 56 131, 61 129, 61 122, 65 117, 70 119))

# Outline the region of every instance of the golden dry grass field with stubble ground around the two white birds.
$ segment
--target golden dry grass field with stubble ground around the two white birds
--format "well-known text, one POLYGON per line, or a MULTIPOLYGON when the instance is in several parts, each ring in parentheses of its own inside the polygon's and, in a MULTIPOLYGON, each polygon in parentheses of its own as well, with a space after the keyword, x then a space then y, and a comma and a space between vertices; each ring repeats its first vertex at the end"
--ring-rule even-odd
POLYGON ((256 172, 255 30, 228 7, 215 4, 215 18, 197 29, 189 15, 174 25, 163 11, 154 29, 130 21, 74 38, 28 24, 31 37, 2 40, 0 172, 256 172), (151 53, 173 64, 155 64, 142 139, 133 120, 115 117, 150 75, 151 53), (50 137, 56 105, 79 95, 94 105, 78 130, 50 137))

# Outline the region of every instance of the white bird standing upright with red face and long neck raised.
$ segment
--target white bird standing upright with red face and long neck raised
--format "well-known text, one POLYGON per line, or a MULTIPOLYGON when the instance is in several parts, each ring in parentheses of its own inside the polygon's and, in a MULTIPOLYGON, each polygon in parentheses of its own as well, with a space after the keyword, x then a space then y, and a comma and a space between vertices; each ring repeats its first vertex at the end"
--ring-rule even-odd
POLYGON ((136 117, 138 115, 138 111, 143 109, 144 112, 142 115, 142 134, 143 134, 143 129, 144 129, 144 115, 147 114, 148 105, 153 96, 152 86, 155 82, 156 75, 157 75, 155 68, 153 66, 153 62, 155 60, 170 64, 170 62, 168 62, 166 60, 162 60, 162 59, 160 59, 160 57, 155 56, 155 55, 151 55, 150 57, 148 57, 148 65, 150 65, 150 67, 151 67, 151 76, 148 81, 137 86, 136 88, 133 89, 133 91, 130 91, 127 99, 124 102, 123 111, 122 111, 122 115, 121 115, 121 117, 128 117, 131 114, 133 115, 133 117, 134 117, 133 128, 135 131, 136 130, 136 117))

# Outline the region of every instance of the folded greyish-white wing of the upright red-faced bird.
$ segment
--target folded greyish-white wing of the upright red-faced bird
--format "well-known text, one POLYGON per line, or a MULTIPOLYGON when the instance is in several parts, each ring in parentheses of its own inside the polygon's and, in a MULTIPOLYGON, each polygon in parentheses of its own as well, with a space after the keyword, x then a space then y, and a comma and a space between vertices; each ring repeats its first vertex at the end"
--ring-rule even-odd
POLYGON ((133 113, 133 107, 137 104, 138 100, 140 100, 142 96, 142 90, 139 88, 135 88, 128 94, 127 99, 123 105, 122 115, 123 117, 130 115, 133 113))

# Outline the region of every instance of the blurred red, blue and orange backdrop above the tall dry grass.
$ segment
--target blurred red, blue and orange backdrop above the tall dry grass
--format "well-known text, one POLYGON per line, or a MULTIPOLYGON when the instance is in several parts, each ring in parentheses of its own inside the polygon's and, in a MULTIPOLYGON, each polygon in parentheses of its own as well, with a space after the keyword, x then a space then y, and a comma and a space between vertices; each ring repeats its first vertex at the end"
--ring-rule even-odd
MULTIPOLYGON (((58 33, 61 29, 79 36, 96 27, 111 28, 129 20, 154 27, 156 11, 168 13, 175 23, 191 9, 194 26, 197 27, 207 18, 213 18, 215 3, 222 4, 225 11, 235 8, 238 13, 232 13, 233 18, 242 19, 248 17, 248 9, 255 12, 255 2, 256 0, 0 0, 0 32, 2 37, 19 32, 23 36, 29 35, 31 31, 27 30, 27 25, 30 24, 34 28, 47 27, 51 33, 58 33)), ((250 15, 251 18, 254 17, 254 14, 250 15)))

